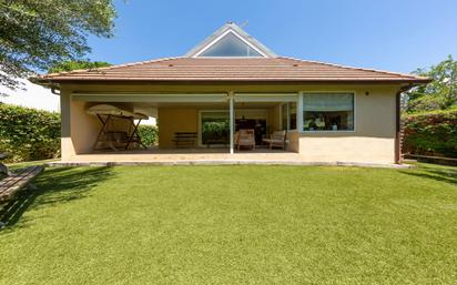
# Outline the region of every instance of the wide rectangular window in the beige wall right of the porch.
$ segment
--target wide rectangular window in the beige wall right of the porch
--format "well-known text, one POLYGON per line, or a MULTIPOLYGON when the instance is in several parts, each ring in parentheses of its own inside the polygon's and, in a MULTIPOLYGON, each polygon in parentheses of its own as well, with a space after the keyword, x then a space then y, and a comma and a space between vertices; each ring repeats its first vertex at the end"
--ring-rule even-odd
POLYGON ((304 94, 305 131, 353 131, 354 93, 304 94))

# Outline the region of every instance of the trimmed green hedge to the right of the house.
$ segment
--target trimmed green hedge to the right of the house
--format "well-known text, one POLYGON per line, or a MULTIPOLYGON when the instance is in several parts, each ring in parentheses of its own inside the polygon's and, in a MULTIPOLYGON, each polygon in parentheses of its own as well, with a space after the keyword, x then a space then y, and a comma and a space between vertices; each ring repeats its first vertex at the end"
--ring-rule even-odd
POLYGON ((403 153, 457 157, 457 110, 406 115, 403 153))

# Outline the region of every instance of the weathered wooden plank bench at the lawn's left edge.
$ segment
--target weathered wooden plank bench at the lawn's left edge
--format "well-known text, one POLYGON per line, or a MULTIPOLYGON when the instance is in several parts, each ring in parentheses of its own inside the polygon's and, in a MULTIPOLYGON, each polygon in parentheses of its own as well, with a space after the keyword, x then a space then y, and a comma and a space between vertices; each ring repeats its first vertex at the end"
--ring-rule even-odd
MULTIPOLYGON (((30 166, 11 173, 0 181, 0 204, 11 200, 34 176, 43 171, 43 166, 30 166)), ((0 225, 1 226, 1 225, 0 225)))

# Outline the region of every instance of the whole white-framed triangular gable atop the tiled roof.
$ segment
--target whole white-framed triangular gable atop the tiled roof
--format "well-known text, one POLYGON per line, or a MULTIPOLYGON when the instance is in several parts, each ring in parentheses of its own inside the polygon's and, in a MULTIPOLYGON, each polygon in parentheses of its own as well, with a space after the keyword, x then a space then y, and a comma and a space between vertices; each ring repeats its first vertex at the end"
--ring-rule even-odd
POLYGON ((228 22, 202 43, 193 48, 187 58, 275 58, 268 48, 228 22))

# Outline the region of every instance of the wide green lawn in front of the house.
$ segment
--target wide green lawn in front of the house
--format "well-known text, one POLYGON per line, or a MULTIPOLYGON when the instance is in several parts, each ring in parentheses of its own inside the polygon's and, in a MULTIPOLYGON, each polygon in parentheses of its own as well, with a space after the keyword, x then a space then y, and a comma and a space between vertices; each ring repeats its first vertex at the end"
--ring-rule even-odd
POLYGON ((0 284, 457 284, 457 169, 48 169, 0 284))

